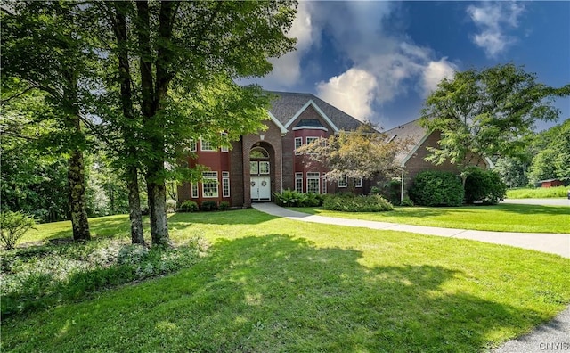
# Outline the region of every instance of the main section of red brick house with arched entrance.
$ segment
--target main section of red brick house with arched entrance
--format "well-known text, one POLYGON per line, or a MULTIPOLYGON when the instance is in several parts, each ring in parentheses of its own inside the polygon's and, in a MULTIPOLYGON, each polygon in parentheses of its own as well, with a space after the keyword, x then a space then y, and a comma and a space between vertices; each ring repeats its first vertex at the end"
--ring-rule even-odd
POLYGON ((276 96, 268 111, 265 131, 244 135, 232 148, 217 148, 208 141, 191 146, 196 159, 211 170, 203 173, 198 184, 178 187, 178 201, 228 201, 232 207, 249 207, 251 202, 272 201, 273 193, 291 189, 302 193, 336 193, 351 189, 367 192, 370 181, 327 182, 326 169, 308 163, 308 157, 295 153, 297 147, 316 138, 327 138, 340 130, 354 130, 362 123, 314 96, 270 92, 276 96))

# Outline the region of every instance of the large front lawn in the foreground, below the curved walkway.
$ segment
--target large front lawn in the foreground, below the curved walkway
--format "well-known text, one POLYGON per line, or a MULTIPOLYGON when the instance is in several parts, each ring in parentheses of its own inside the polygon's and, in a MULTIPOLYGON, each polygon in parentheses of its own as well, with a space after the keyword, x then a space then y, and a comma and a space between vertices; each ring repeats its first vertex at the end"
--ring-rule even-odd
MULTIPOLYGON (((127 238, 127 223, 91 220, 99 236, 127 238)), ((169 226, 175 242, 202 234, 209 255, 4 319, 2 351, 480 352, 570 303, 570 259, 536 251, 254 209, 175 214, 169 226)), ((66 223, 37 228, 36 239, 70 234, 66 223)))

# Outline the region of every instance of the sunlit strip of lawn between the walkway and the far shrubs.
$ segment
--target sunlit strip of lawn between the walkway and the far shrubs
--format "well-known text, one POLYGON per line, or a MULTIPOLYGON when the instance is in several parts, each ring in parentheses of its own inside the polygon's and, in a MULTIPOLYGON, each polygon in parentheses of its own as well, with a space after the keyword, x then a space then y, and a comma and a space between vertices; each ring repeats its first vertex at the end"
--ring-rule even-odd
POLYGON ((495 232, 570 233, 570 208, 499 204, 464 207, 395 207, 389 212, 340 212, 320 208, 291 208, 300 212, 415 226, 475 229, 495 232))

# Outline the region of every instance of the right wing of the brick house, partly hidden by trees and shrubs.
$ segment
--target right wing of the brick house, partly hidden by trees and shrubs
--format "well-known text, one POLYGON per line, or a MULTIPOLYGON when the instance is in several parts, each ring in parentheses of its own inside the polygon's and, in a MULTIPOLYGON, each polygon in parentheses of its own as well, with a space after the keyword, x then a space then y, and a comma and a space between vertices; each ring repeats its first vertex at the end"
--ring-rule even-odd
MULTIPOLYGON (((441 131, 428 131, 428 129, 419 125, 419 119, 410 121, 399 127, 394 127, 385 132, 390 139, 407 139, 412 142, 410 148, 402 154, 396 156, 399 161, 402 174, 400 181, 402 182, 401 200, 405 191, 411 186, 411 182, 418 175, 419 172, 424 170, 441 170, 451 171, 453 173, 460 173, 459 168, 445 160, 440 165, 435 165, 426 160, 430 154, 428 147, 438 148, 439 140, 441 139, 441 131)), ((486 157, 480 157, 468 154, 467 159, 469 165, 477 166, 480 168, 494 168, 493 161, 486 157)))

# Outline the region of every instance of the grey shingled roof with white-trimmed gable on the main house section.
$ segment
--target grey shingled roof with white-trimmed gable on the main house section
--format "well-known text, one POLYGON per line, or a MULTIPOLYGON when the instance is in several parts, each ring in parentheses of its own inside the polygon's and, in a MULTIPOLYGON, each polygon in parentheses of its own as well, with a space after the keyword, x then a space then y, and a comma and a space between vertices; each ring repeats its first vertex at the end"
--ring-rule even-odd
POLYGON ((354 130, 362 125, 360 120, 324 102, 314 94, 274 91, 267 93, 275 96, 269 111, 284 127, 289 127, 309 105, 313 105, 314 109, 321 114, 322 119, 330 123, 330 127, 336 131, 354 130))

